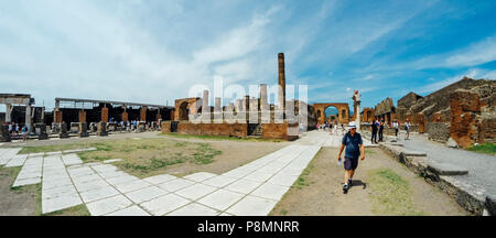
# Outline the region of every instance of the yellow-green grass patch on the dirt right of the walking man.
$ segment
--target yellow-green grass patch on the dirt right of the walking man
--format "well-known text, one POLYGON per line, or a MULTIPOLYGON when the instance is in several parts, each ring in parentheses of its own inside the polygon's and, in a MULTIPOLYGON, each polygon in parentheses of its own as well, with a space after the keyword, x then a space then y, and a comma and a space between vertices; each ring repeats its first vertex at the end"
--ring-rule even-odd
POLYGON ((373 191, 373 213, 377 215, 420 216, 412 202, 412 191, 408 181, 390 169, 378 169, 368 172, 373 191))

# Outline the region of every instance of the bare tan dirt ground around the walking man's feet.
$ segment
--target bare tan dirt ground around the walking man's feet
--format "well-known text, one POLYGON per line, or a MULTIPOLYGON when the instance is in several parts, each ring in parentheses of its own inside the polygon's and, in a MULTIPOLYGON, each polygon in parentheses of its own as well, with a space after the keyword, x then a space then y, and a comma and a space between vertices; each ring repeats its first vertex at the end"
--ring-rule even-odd
POLYGON ((280 216, 375 216, 395 215, 377 214, 379 206, 373 198, 374 190, 368 184, 369 171, 390 169, 408 181, 411 190, 412 206, 430 216, 468 215, 456 202, 439 188, 428 184, 406 166, 385 154, 380 149, 366 149, 366 156, 360 161, 353 177, 354 185, 343 194, 344 170, 337 167, 337 148, 323 148, 302 175, 308 185, 295 186, 283 196, 271 215, 280 216), (356 185, 355 185, 356 184, 356 185), (301 187, 301 188, 299 188, 301 187))

